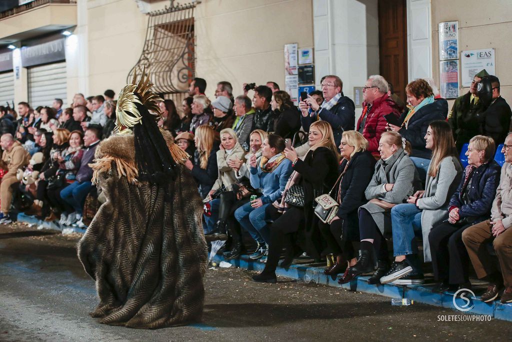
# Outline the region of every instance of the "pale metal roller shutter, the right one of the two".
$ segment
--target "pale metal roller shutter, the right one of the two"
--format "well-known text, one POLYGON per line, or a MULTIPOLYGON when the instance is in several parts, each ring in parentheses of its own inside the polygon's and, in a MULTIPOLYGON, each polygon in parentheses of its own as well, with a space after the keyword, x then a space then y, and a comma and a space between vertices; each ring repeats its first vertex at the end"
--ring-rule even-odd
POLYGON ((52 106, 54 98, 61 98, 67 107, 66 93, 66 62, 32 67, 28 70, 29 104, 52 106))

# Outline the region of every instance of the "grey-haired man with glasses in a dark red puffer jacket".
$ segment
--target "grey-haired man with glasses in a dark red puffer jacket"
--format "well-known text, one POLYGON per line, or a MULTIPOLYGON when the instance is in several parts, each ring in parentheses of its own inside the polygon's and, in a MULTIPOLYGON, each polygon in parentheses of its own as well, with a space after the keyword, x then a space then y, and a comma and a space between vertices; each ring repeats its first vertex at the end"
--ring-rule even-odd
POLYGON ((384 115, 393 113, 400 117, 398 105, 388 95, 388 82, 380 75, 372 75, 366 81, 362 89, 364 100, 362 114, 357 121, 356 129, 369 143, 368 151, 379 159, 380 135, 386 132, 387 121, 384 115))

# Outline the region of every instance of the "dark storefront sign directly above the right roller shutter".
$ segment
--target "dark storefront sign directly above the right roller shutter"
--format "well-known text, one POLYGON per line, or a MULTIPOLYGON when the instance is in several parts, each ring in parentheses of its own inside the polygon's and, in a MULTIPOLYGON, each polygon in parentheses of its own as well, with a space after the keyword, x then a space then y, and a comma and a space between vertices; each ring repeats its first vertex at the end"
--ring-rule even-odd
POLYGON ((22 66, 27 68, 39 64, 63 61, 66 59, 64 46, 65 40, 60 38, 52 42, 22 48, 22 66))

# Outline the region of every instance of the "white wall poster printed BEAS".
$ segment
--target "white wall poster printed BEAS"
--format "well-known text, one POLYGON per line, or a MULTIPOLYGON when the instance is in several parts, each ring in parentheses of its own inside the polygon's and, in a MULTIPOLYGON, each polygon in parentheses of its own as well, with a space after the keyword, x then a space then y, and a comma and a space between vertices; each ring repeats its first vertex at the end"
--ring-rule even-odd
POLYGON ((462 87, 471 86, 473 78, 482 69, 485 69, 489 75, 496 75, 495 56, 493 48, 462 51, 460 55, 462 87))

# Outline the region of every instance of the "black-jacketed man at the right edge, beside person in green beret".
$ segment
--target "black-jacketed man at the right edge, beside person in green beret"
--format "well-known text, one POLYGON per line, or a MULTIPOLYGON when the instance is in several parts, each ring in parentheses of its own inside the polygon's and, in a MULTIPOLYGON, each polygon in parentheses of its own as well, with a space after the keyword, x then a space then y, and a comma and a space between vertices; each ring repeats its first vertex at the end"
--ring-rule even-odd
POLYGON ((493 99, 483 113, 485 124, 481 134, 492 137, 496 146, 498 146, 503 144, 510 131, 512 111, 510 111, 510 106, 505 99, 500 96, 500 80, 498 77, 490 75, 488 78, 493 87, 493 99))

